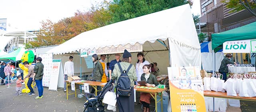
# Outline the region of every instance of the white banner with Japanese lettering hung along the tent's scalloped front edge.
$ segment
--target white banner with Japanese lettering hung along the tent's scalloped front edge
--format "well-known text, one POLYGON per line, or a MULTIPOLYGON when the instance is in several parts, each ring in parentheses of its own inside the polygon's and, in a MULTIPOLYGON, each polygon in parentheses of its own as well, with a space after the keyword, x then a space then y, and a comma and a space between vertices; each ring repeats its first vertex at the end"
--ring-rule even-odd
POLYGON ((128 52, 142 52, 142 45, 140 43, 136 43, 134 45, 126 44, 124 46, 119 45, 118 47, 111 46, 105 48, 98 48, 96 50, 96 54, 116 54, 116 53, 123 53, 124 50, 128 50, 128 52))

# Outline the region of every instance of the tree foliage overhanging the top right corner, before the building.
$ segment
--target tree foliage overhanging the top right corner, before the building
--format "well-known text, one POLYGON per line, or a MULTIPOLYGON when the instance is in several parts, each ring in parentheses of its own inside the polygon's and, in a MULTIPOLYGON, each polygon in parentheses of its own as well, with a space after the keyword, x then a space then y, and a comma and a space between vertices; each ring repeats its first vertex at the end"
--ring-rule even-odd
POLYGON ((231 12, 248 10, 251 14, 256 16, 256 0, 223 0, 222 2, 227 3, 228 8, 234 8, 231 12))

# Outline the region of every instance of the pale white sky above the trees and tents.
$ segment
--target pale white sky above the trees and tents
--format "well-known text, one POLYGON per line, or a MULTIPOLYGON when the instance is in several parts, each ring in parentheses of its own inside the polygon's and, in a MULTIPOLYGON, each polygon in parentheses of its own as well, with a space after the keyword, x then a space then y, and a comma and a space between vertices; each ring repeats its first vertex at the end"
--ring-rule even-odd
MULTIPOLYGON (((20 30, 38 30, 42 20, 53 22, 73 16, 76 10, 86 11, 103 0, 1 0, 0 18, 20 30)), ((194 0, 192 13, 200 14, 200 1, 194 0)), ((7 29, 8 30, 8 29, 7 29)))

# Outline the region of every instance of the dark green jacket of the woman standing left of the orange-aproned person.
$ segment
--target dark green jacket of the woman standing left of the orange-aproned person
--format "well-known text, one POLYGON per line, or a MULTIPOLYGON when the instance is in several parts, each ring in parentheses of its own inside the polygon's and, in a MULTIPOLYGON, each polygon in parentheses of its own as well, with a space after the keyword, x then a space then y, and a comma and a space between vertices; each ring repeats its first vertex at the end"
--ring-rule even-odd
POLYGON ((103 76, 104 72, 103 72, 103 68, 102 68, 102 64, 97 61, 96 64, 94 64, 94 68, 92 70, 92 79, 93 80, 101 80, 102 76, 103 76))

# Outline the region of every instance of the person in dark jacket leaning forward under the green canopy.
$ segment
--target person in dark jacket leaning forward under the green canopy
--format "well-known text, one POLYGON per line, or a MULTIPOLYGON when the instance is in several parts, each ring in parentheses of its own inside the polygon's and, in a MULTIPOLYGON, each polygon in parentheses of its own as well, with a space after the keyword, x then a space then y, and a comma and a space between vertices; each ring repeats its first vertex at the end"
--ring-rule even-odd
POLYGON ((231 60, 232 55, 226 54, 226 57, 221 61, 219 72, 223 75, 222 80, 227 80, 227 73, 228 73, 228 64, 236 64, 233 60, 231 60))

